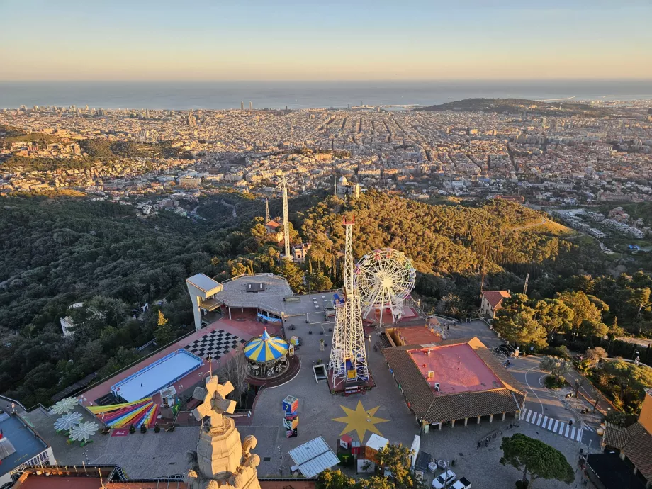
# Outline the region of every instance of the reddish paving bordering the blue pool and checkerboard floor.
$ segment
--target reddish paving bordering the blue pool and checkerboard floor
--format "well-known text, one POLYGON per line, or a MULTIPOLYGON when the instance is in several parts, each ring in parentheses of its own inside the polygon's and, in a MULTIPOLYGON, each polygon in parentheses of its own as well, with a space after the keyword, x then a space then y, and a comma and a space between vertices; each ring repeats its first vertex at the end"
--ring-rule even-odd
MULTIPOLYGON (((149 358, 141 361, 140 364, 136 364, 135 366, 130 367, 130 369, 118 373, 118 375, 109 378, 107 381, 96 384, 95 386, 93 386, 93 388, 86 390, 86 392, 83 393, 84 398, 86 398, 86 400, 84 401, 84 405, 91 405, 92 403, 94 403, 96 399, 99 399, 103 395, 108 394, 111 391, 111 386, 113 386, 114 383, 121 381, 123 378, 127 378, 128 376, 132 375, 133 373, 136 373, 140 369, 144 369, 147 365, 152 364, 154 361, 162 359, 164 356, 174 352, 179 348, 184 348, 186 344, 191 344, 196 339, 199 339, 204 335, 208 335, 208 333, 213 332, 215 330, 224 330, 230 332, 232 335, 236 335, 237 337, 240 337, 245 340, 249 340, 254 336, 261 335, 265 327, 267 328, 267 332, 269 332, 270 335, 280 334, 281 331, 280 324, 274 325, 269 323, 267 325, 264 325, 262 322, 258 322, 257 320, 255 320, 255 314, 254 314, 254 318, 252 319, 252 315, 247 314, 246 311, 245 314, 242 314, 240 313, 240 311, 238 311, 238 314, 240 319, 235 319, 234 311, 232 311, 232 317, 234 317, 234 319, 217 320, 213 322, 213 324, 211 324, 210 326, 203 328, 203 330, 194 332, 189 337, 180 339, 179 342, 176 342, 175 344, 167 347, 161 352, 158 352, 157 354, 152 355, 149 358)), ((215 369, 218 368, 218 363, 220 364, 224 363, 230 358, 230 356, 233 355, 235 355, 235 351, 231 350, 231 352, 223 356, 221 359, 213 360, 212 361, 213 371, 215 371, 215 369)), ((181 380, 174 383, 176 392, 181 393, 184 390, 188 390, 189 388, 191 388, 191 386, 194 386, 200 380, 201 376, 203 376, 203 374, 206 372, 208 372, 208 362, 204 361, 203 365, 198 370, 189 373, 187 376, 181 378, 181 380)), ((154 403, 160 404, 161 396, 156 394, 153 396, 153 400, 154 403)))

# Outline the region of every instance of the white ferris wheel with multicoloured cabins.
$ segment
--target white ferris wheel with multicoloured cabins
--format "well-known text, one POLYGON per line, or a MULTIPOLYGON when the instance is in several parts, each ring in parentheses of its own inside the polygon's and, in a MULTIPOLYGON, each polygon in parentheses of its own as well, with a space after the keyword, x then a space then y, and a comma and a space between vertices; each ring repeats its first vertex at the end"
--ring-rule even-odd
POLYGON ((362 317, 372 310, 390 313, 392 321, 403 315, 403 301, 415 288, 416 271, 405 254, 391 248, 376 249, 366 254, 356 265, 355 286, 360 294, 362 317))

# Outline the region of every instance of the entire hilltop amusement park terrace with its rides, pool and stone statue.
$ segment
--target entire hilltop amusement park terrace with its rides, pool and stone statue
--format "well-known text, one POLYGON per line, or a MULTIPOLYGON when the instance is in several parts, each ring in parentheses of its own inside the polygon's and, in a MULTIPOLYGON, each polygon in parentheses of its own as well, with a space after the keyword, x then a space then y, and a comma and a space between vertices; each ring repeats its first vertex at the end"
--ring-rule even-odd
POLYGON ((296 295, 273 274, 196 274, 186 279, 193 332, 50 408, 5 405, 0 427, 16 426, 0 488, 18 478, 14 487, 55 487, 39 474, 74 482, 82 471, 107 488, 310 488, 326 468, 374 471, 387 444, 412 447, 428 483, 437 461, 478 481, 491 463, 492 480, 478 486, 507 487, 513 469, 498 463, 496 438, 533 428, 519 424, 524 387, 495 356, 502 340, 483 320, 422 313, 402 253, 354 265, 348 224, 342 291, 296 295))

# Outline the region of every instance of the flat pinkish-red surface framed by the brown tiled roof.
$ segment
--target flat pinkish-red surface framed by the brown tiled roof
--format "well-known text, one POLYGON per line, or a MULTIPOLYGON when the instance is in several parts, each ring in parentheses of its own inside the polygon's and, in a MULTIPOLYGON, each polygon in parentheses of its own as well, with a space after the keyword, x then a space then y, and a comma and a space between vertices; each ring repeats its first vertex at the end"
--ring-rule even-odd
POLYGON ((504 387, 476 352, 468 344, 454 344, 448 347, 410 350, 410 358, 433 388, 439 382, 439 393, 456 394, 504 387), (428 371, 434 377, 428 379, 428 371))

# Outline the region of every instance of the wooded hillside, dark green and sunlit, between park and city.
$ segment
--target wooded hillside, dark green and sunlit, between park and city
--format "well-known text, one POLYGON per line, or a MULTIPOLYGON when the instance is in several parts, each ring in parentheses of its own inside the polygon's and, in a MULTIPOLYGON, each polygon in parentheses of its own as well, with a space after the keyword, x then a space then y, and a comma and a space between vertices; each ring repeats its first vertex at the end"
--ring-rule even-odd
MULTIPOLYGON (((546 225, 524 227, 542 215, 507 201, 432 206, 375 191, 346 202, 293 198, 291 239, 313 244, 302 266, 279 261, 279 244, 264 227, 264 202, 241 193, 201 198, 200 220, 166 211, 139 218, 133 206, 72 196, 11 197, 1 206, 0 392, 28 406, 49 405, 52 395, 89 373, 103 378, 118 371, 151 339, 162 346, 189 332, 184 280, 192 274, 223 280, 271 271, 296 292, 341 286, 344 215, 356 219, 356 259, 393 247, 413 260, 414 295, 427 312, 477 315, 481 281, 518 291, 529 273, 528 296, 515 296, 514 307, 537 314, 556 308, 559 335, 586 340, 590 327, 613 328, 616 316, 618 327, 644 335, 652 319, 646 274, 605 275, 592 242, 580 246, 546 225), (222 198, 236 206, 238 218, 222 198), (581 321, 563 320, 569 314, 556 304, 567 304, 568 293, 583 294, 600 317, 590 310, 581 321), (74 303, 83 305, 69 309, 74 303), (152 307, 142 313, 145 303, 152 307), (74 320, 73 338, 61 333, 66 315, 74 320)), ((270 206, 280 210, 276 201, 270 206)), ((535 319, 537 327, 555 327, 550 318, 535 319)))

